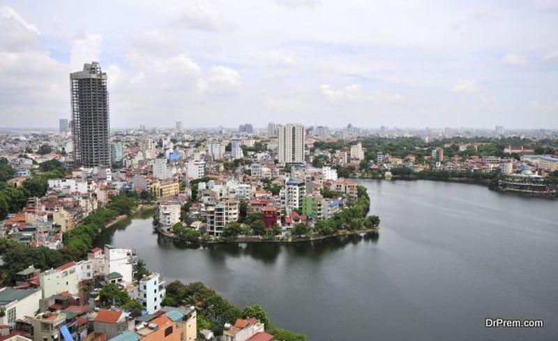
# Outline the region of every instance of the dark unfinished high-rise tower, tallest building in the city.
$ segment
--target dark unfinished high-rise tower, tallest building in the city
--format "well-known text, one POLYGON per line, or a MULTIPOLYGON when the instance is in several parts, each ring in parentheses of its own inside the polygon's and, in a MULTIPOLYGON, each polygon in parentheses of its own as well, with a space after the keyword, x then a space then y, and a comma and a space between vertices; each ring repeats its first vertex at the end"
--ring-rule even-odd
POLYGON ((70 74, 75 166, 110 165, 107 74, 97 61, 70 74))

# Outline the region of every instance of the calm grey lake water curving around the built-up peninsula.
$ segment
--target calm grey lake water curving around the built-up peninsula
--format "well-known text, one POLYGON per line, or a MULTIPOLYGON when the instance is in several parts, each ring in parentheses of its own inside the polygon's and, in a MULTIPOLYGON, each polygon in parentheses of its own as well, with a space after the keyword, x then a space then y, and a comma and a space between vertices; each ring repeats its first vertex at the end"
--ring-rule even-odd
POLYGON ((167 281, 202 281, 262 305, 310 340, 558 340, 558 203, 482 186, 360 181, 378 238, 193 248, 153 234, 151 217, 107 231, 167 281), (543 328, 485 328, 485 318, 543 328))

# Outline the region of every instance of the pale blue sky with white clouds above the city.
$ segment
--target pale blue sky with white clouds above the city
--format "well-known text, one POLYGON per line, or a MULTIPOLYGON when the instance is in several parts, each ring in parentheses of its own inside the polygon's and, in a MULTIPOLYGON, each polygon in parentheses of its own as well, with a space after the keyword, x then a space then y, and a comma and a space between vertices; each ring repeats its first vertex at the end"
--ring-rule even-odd
POLYGON ((0 127, 558 128, 558 0, 0 0, 0 127))

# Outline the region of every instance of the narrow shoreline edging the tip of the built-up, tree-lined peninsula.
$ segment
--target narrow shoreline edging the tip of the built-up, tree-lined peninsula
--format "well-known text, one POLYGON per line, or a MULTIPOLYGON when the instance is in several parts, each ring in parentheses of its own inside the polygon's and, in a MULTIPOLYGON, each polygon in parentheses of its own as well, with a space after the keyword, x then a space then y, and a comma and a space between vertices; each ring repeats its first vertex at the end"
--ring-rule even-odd
POLYGON ((243 236, 243 237, 236 237, 234 239, 217 239, 211 241, 204 241, 199 239, 198 241, 188 241, 184 238, 180 238, 173 233, 164 232, 159 228, 156 228, 155 231, 158 235, 163 236, 165 238, 172 239, 173 241, 179 241, 181 243, 198 243, 202 245, 211 245, 211 244, 220 244, 220 243, 307 243, 310 241, 323 241, 325 239, 340 237, 340 236, 354 236, 355 234, 371 234, 371 235, 379 235, 379 227, 372 227, 370 229, 356 229, 354 231, 349 231, 346 229, 338 230, 335 234, 330 234, 328 236, 306 236, 306 237, 297 237, 297 238, 262 238, 261 236, 243 236))

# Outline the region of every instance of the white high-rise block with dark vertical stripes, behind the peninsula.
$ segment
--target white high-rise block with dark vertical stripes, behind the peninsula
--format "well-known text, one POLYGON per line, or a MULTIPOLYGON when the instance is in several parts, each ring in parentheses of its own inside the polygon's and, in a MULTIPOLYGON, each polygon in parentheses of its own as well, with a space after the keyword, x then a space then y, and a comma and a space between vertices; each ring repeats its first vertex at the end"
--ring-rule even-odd
POLYGON ((304 126, 288 123, 279 127, 279 162, 304 163, 304 126))

